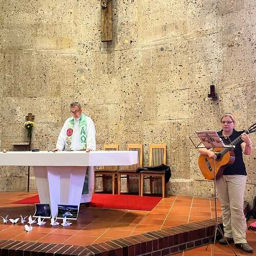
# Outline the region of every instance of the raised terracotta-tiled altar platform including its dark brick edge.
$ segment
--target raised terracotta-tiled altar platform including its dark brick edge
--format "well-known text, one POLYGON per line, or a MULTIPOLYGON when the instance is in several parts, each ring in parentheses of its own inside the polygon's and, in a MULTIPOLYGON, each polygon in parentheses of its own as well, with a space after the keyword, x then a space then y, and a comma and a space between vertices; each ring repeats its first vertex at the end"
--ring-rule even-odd
MULTIPOLYGON (((33 195, 0 193, 0 215, 33 214, 33 205, 12 204, 33 195)), ((210 255, 212 244, 207 251, 205 245, 214 231, 214 216, 212 199, 184 196, 163 198, 150 211, 82 206, 69 227, 51 227, 48 220, 25 232, 21 224, 0 224, 0 255, 210 255)), ((247 239, 255 250, 256 232, 248 230, 247 239)), ((229 247, 219 244, 215 251, 232 255, 229 247)))

